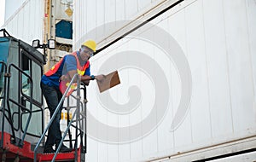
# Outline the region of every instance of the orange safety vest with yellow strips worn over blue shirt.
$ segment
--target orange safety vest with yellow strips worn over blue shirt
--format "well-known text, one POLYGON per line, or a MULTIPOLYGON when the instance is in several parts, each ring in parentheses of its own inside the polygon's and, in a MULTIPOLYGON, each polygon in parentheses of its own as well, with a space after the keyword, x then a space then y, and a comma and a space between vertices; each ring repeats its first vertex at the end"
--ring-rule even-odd
MULTIPOLYGON (((73 55, 76 58, 78 74, 79 74, 79 76, 83 76, 85 70, 90 66, 90 61, 87 61, 84 64, 84 66, 82 67, 80 65, 77 52, 73 52, 72 54, 69 54, 69 55, 73 55)), ((55 64, 55 66, 51 67, 48 72, 45 72, 44 75, 51 76, 51 75, 55 74, 55 72, 57 72, 58 69, 61 67, 61 63, 62 63, 63 59, 64 59, 64 57, 61 58, 61 61, 57 62, 55 64)), ((69 78, 69 76, 67 76, 67 78, 69 78)), ((60 88, 62 94, 64 94, 64 92, 67 90, 67 86, 70 84, 69 82, 70 82, 70 78, 68 79, 68 81, 67 80, 61 80, 59 88, 60 88)), ((71 89, 67 92, 67 96, 71 95, 73 93, 73 90, 75 90, 76 88, 77 88, 77 84, 76 83, 72 84, 71 89)))

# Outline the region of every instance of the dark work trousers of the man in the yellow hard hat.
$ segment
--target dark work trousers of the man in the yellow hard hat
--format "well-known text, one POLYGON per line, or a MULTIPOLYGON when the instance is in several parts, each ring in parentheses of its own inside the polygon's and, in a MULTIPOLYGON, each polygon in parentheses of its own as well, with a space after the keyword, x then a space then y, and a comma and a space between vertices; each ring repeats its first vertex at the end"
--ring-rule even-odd
MULTIPOLYGON (((52 115, 55 113, 55 108, 58 106, 59 102, 61 101, 61 97, 62 97, 61 91, 58 89, 55 89, 55 87, 51 87, 49 85, 43 84, 42 82, 41 82, 41 89, 49 108, 50 118, 52 118, 52 115)), ((60 127, 61 110, 62 110, 62 105, 60 110, 56 114, 55 119, 53 120, 53 123, 49 127, 48 137, 45 142, 44 148, 52 147, 55 144, 57 147, 61 142, 61 127, 60 127)))

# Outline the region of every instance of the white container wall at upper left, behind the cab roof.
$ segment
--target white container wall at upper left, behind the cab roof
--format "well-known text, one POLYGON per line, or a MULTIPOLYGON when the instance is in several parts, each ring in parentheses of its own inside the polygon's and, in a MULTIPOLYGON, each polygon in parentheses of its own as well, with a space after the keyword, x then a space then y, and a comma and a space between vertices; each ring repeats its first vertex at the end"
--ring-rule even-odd
MULTIPOLYGON (((6 1, 10 6, 13 1, 6 1)), ((26 0, 15 14, 5 22, 5 28, 15 38, 20 38, 26 43, 32 44, 32 40, 43 40, 44 33, 44 1, 26 0)))

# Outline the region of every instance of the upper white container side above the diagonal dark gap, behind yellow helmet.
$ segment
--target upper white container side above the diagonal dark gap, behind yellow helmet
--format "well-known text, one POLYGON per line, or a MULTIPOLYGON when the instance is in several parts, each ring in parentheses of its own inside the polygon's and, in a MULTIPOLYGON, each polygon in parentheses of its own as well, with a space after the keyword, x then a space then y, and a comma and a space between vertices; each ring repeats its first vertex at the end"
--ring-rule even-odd
MULTIPOLYGON (((79 48, 83 40, 81 34, 86 34, 95 29, 96 26, 104 26, 108 22, 118 20, 135 20, 145 14, 145 11, 153 9, 156 5, 166 0, 74 0, 75 12, 73 22, 74 37, 73 48, 79 48)), ((175 1, 175 0, 171 0, 175 1)), ((104 29, 87 36, 102 41, 105 37, 117 30, 119 26, 113 25, 111 31, 104 29)))

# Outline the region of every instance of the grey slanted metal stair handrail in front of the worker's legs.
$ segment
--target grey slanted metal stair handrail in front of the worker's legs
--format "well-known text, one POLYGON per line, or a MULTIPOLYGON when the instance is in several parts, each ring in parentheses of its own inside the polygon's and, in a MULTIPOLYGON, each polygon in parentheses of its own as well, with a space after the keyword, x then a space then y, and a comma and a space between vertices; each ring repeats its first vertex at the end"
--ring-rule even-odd
MULTIPOLYGON (((56 114, 60 111, 60 108, 62 108, 62 103, 63 103, 64 100, 65 100, 65 97, 66 97, 66 95, 67 95, 67 92, 71 89, 71 86, 72 86, 72 84, 75 82, 75 80, 76 80, 76 82, 77 82, 77 95, 75 96, 75 98, 76 98, 76 100, 77 100, 76 109, 75 109, 75 112, 74 112, 74 115, 73 115, 72 119, 71 119, 71 120, 69 121, 69 123, 67 124, 67 129, 64 131, 64 134, 63 134, 63 136, 62 136, 62 138, 61 138, 61 142, 60 142, 58 148, 55 150, 55 155, 54 155, 54 157, 53 157, 53 159, 52 159, 52 162, 55 161, 55 158, 56 158, 56 156, 57 156, 57 153, 59 153, 59 151, 60 151, 60 149, 61 149, 61 146, 62 146, 62 143, 64 142, 64 138, 67 136, 67 131, 69 131, 70 127, 72 126, 72 123, 74 122, 74 117, 75 117, 75 116, 76 116, 76 120, 75 120, 76 126, 78 127, 79 114, 80 114, 80 99, 81 99, 81 97, 80 97, 80 85, 81 85, 81 81, 80 81, 80 79, 79 79, 79 74, 75 74, 75 75, 73 76, 73 78, 72 78, 70 84, 67 86, 67 90, 66 90, 65 93, 63 94, 63 96, 62 96, 62 98, 61 98, 61 101, 59 102, 58 106, 56 107, 55 113, 53 113, 51 119, 49 120, 49 124, 46 126, 46 128, 45 128, 45 130, 44 130, 42 136, 40 137, 40 139, 39 139, 39 141, 38 141, 36 147, 34 148, 34 162, 37 161, 37 154, 38 154, 37 152, 38 152, 39 145, 40 145, 40 143, 43 141, 44 136, 46 135, 46 132, 49 130, 50 125, 53 123, 53 120, 55 119, 56 114)), ((81 131, 83 131, 83 130, 80 130, 80 134, 82 133, 81 131)), ((84 133, 84 132, 83 132, 83 133, 84 133)), ((78 128, 76 128, 76 142, 75 142, 75 143, 77 143, 77 136, 78 136, 78 128)), ((76 147, 76 145, 75 145, 75 161, 76 161, 76 159, 77 159, 77 154, 78 154, 76 148, 77 148, 77 147, 76 147)))

